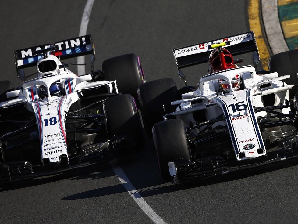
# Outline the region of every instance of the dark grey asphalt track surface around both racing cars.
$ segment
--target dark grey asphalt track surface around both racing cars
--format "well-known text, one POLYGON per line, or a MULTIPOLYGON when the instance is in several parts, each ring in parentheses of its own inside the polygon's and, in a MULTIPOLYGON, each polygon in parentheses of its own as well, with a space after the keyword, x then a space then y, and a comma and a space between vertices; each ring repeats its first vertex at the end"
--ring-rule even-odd
MULTIPOLYGON (((16 77, 13 50, 76 37, 85 1, 5 1, 0 8, 0 78, 16 77)), ((172 77, 179 87, 172 49, 249 31, 247 1, 95 1, 87 29, 104 59, 134 52, 147 81, 172 77)), ((243 57, 251 64, 250 57, 243 57)), ((86 57, 87 60, 87 57, 86 57)), ((73 60, 73 63, 76 61, 73 60)), ((76 67, 71 68, 76 71, 76 67)), ((86 71, 89 68, 86 67, 86 71)), ((207 65, 185 71, 190 85, 207 65)), ((297 173, 293 166, 239 173, 191 186, 165 183, 149 138, 140 153, 119 164, 141 197, 167 223, 297 222, 297 173)), ((109 164, 0 190, 1 223, 151 223, 109 164)))

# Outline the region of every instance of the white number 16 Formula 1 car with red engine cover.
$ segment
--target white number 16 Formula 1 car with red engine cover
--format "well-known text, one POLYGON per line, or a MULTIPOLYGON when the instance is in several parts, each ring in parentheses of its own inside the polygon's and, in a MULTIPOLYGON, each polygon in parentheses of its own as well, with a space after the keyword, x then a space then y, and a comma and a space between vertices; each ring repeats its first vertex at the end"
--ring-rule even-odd
POLYGON ((169 78, 138 90, 144 125, 152 130, 165 179, 193 182, 298 156, 298 94, 289 91, 297 91, 297 50, 272 56, 270 71, 257 69, 253 31, 173 53, 185 83, 181 68, 208 62, 208 74, 179 91, 169 78), (243 60, 233 56, 247 52, 254 52, 255 67, 238 67, 243 60))

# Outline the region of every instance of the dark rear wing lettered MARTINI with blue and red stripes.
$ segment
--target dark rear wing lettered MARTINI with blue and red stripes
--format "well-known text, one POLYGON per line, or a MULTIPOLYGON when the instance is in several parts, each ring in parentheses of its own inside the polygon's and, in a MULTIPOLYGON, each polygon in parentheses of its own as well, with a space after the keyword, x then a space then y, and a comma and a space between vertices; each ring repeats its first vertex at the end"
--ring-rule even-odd
POLYGON ((65 60, 87 54, 92 54, 93 60, 95 57, 94 45, 91 35, 58 41, 53 45, 43 44, 30 48, 24 48, 14 51, 14 60, 18 76, 20 69, 37 65, 37 61, 43 56, 43 54, 38 52, 36 54, 34 53, 35 51, 47 49, 51 46, 55 47, 55 50, 51 51, 51 54, 59 57, 59 60, 65 60))

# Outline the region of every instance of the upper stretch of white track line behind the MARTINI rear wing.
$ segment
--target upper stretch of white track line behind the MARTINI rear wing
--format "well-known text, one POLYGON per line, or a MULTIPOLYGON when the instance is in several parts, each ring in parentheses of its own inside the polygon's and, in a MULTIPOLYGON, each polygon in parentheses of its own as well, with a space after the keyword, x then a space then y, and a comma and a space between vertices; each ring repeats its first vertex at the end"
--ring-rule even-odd
MULTIPOLYGON (((87 33, 87 27, 88 27, 88 23, 89 23, 93 3, 94 3, 94 0, 87 0, 87 3, 85 5, 85 9, 84 9, 84 12, 83 12, 82 20, 81 20, 79 36, 84 36, 87 33)), ((85 56, 78 57, 77 62, 78 62, 78 64, 84 64, 85 63, 85 56)), ((78 65, 78 75, 83 75, 83 74, 86 74, 85 66, 78 65)))

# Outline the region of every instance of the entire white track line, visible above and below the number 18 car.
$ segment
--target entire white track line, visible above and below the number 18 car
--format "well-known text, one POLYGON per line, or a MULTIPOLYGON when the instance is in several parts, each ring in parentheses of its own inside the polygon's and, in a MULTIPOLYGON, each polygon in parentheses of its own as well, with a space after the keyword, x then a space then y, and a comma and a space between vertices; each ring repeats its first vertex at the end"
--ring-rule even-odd
MULTIPOLYGON (((93 7, 94 0, 87 0, 85 5, 85 9, 83 12, 81 26, 80 26, 80 34, 79 36, 84 36, 87 33, 87 27, 90 19, 91 10, 93 7)), ((78 64, 85 63, 85 56, 78 57, 78 64)), ((85 74, 85 66, 78 65, 78 74, 85 74)), ((164 224, 166 223, 159 215, 155 213, 155 211, 147 204, 147 202, 141 197, 136 188, 131 184, 130 180, 127 178, 126 174, 123 172, 121 167, 118 165, 118 162, 114 160, 112 163, 113 171, 117 174, 118 179, 128 191, 133 200, 137 203, 137 205, 145 212, 145 214, 154 222, 164 224)))

